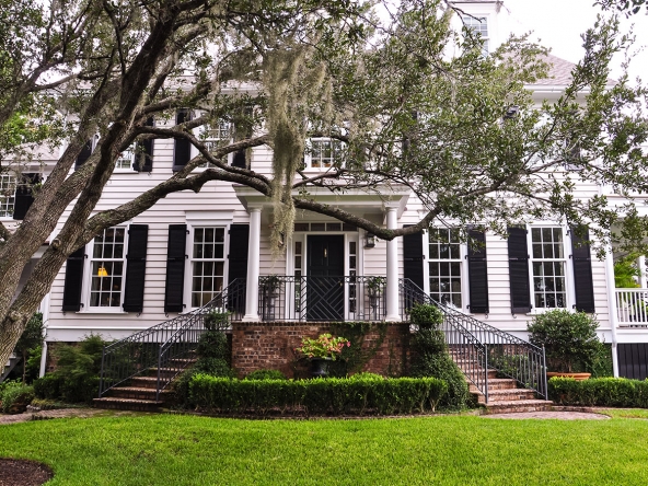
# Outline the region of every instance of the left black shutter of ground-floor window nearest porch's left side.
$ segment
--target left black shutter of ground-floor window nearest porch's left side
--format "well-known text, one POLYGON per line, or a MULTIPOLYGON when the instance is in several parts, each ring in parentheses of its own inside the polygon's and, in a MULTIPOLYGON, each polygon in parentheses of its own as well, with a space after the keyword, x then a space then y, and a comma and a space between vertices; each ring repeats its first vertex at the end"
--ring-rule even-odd
POLYGON ((164 312, 184 310, 183 293, 185 281, 185 252, 187 225, 169 225, 169 246, 166 248, 166 282, 164 289, 164 312))

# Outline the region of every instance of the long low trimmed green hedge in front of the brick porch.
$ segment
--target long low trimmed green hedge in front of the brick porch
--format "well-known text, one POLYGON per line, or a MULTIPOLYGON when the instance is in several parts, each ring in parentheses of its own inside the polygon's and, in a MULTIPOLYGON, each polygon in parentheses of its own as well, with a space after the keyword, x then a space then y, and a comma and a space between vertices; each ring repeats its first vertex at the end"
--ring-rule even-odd
POLYGON ((436 378, 374 377, 315 380, 232 380, 196 374, 189 400, 223 414, 264 415, 269 410, 308 415, 396 415, 435 410, 448 384, 436 378))

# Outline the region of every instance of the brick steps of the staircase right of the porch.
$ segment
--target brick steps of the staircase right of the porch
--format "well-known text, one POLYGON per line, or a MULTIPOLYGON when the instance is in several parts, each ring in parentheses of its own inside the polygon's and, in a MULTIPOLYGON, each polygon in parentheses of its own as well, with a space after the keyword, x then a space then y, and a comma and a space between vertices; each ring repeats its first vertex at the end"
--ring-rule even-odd
MULTIPOLYGON (((464 372, 471 369, 473 372, 483 373, 484 369, 477 363, 467 362, 466 360, 458 359, 454 352, 450 356, 459 368, 464 372)), ((488 382, 488 403, 486 396, 477 386, 470 382, 468 391, 477 398, 477 403, 484 406, 487 414, 512 414, 519 412, 546 412, 552 409, 553 402, 547 400, 536 398, 534 390, 520 389, 513 379, 497 378, 497 370, 489 369, 486 375, 488 382)))

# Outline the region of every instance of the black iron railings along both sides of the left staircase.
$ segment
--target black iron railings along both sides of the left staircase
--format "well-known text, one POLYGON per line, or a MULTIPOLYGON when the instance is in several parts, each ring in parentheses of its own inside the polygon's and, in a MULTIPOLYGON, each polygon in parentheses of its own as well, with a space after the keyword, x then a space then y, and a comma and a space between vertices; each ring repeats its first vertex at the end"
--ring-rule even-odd
POLYGON ((245 308, 245 280, 235 279, 209 303, 170 321, 104 346, 99 396, 129 379, 158 367, 158 396, 188 362, 205 329, 204 317, 212 310, 240 321, 245 308), (162 371, 161 371, 162 369, 162 371))

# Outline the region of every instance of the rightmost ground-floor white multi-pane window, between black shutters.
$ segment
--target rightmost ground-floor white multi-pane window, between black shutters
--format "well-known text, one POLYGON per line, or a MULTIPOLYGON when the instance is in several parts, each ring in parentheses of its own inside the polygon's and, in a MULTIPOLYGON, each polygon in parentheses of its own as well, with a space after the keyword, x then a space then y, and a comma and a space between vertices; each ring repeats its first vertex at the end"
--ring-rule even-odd
POLYGON ((531 228, 533 305, 567 306, 566 259, 563 228, 531 228))

